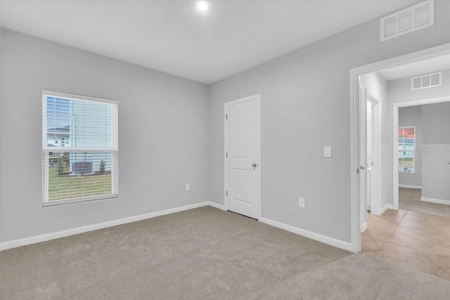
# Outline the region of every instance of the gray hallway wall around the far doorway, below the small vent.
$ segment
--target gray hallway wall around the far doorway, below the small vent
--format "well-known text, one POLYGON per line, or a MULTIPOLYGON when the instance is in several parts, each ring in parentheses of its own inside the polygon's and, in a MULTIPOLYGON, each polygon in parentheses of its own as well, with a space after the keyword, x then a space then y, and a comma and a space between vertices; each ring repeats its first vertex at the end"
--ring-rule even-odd
MULTIPOLYGON (((450 4, 450 1, 448 2, 450 4)), ((441 4, 437 2, 436 4, 441 4)), ((385 150, 385 162, 387 167, 383 171, 383 176, 386 178, 386 183, 382 188, 387 190, 386 198, 387 203, 393 203, 392 190, 393 190, 393 178, 392 178, 392 106, 394 103, 409 102, 414 100, 423 100, 430 98, 438 98, 450 96, 450 70, 442 71, 442 86, 435 86, 430 89, 411 90, 411 77, 395 79, 387 81, 387 105, 383 107, 383 128, 382 128, 382 140, 383 148, 385 150)), ((423 134, 425 137, 425 134, 423 134)), ((425 143, 425 141, 423 141, 425 143)), ((423 163, 423 162, 422 162, 423 163)), ((422 182, 423 186, 423 182, 422 182)))

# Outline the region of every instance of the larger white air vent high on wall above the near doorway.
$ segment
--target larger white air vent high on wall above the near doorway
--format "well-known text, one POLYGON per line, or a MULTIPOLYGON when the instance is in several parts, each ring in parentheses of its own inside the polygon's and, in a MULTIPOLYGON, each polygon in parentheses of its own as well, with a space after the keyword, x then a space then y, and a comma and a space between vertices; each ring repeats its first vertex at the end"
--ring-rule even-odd
POLYGON ((435 1, 423 1, 420 4, 381 18, 380 39, 385 41, 434 24, 435 1))

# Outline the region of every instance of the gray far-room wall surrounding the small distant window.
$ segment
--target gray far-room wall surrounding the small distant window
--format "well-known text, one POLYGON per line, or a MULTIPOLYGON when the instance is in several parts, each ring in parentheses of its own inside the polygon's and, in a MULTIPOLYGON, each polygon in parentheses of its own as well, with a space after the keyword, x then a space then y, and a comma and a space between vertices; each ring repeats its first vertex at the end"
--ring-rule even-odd
MULTIPOLYGON (((422 123, 422 105, 399 108, 399 126, 416 126, 416 148, 422 147, 422 123)), ((422 186, 422 154, 420 151, 416 151, 414 158, 414 174, 399 174, 399 185, 422 186)))

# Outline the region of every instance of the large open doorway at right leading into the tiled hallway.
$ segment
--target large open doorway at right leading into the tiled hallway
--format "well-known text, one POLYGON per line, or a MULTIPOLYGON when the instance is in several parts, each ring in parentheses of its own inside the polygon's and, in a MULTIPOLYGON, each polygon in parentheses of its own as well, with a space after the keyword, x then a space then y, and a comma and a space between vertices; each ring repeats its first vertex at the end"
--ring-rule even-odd
MULTIPOLYGON (((434 201, 442 206, 450 204, 450 118, 448 117, 450 115, 450 103, 448 103, 450 100, 450 46, 447 44, 420 51, 420 53, 412 53, 409 56, 361 67, 359 71, 361 70, 370 71, 352 70, 352 76, 357 74, 360 85, 357 110, 356 107, 353 110, 358 118, 357 122, 352 124, 359 124, 358 131, 354 132, 359 150, 353 152, 358 155, 352 155, 352 169, 356 167, 354 169, 358 170, 355 172, 358 176, 354 176, 355 181, 352 185, 352 192, 356 186, 358 193, 352 195, 359 196, 359 199, 352 204, 359 205, 359 214, 356 214, 359 216, 359 223, 356 224, 357 226, 352 226, 352 230, 356 231, 355 228, 361 231, 365 228, 368 230, 359 237, 362 239, 362 244, 361 240, 358 241, 358 237, 355 237, 360 243, 358 250, 376 256, 378 259, 450 280, 450 268, 442 270, 442 263, 439 263, 450 260, 450 253, 448 253, 450 243, 442 240, 442 234, 436 234, 442 233, 442 230, 450 233, 450 218, 444 216, 445 212, 439 216, 430 214, 429 211, 418 212, 405 209, 403 204, 400 204, 399 209, 399 187, 418 190, 425 188, 423 185, 429 186, 430 182, 440 183, 440 185, 435 184, 431 188, 425 188, 426 192, 423 190, 425 194, 420 193, 420 202, 434 201), (435 87, 433 88, 433 84, 426 79, 428 74, 436 73, 439 73, 439 80, 434 79, 435 87), (424 85, 423 89, 417 88, 415 77, 420 77, 420 84, 424 85), (371 101, 368 101, 367 96, 362 96, 369 92, 379 95, 379 104, 373 105, 371 101), (446 102, 448 107, 445 106, 446 102), (372 115, 373 108, 377 105, 381 107, 380 120, 372 115), (427 134, 437 136, 434 141, 430 140, 427 143, 420 141, 423 136, 423 126, 417 118, 413 120, 411 116, 401 117, 408 115, 404 110, 410 110, 410 107, 417 105, 420 105, 420 117, 428 118, 420 119, 420 122, 427 124, 425 127, 430 132, 427 134), (426 112, 424 115, 421 113, 422 109, 426 112), (441 121, 438 120, 438 115, 444 115, 441 121), (381 131, 380 143, 377 144, 381 153, 380 178, 382 178, 378 198, 373 197, 371 193, 373 189, 371 181, 373 180, 373 156, 371 154, 376 143, 373 138, 376 121, 379 121, 381 131), (430 151, 439 152, 440 156, 423 154, 430 151), (424 170, 429 173, 431 171, 431 176, 434 177, 428 178, 425 182, 413 183, 412 179, 419 177, 419 173, 420 176, 425 174, 424 170), (378 211, 374 211, 374 204, 379 205, 378 211), (364 214, 367 211, 371 214, 364 214), (365 226, 362 226, 361 224, 364 223, 365 226)), ((418 108, 415 109, 418 110, 418 108)), ((355 144, 353 145, 356 146, 355 144)), ((403 192, 404 190, 401 190, 401 193, 403 192)), ((400 196, 400 198, 410 196, 400 196)), ((450 205, 447 207, 450 211, 450 205)))

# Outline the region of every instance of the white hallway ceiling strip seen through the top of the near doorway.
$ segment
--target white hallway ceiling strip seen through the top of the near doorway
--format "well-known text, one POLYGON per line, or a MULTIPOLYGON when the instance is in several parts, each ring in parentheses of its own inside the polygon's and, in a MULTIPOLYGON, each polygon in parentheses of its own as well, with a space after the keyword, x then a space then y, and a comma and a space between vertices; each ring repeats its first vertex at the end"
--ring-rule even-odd
POLYGON ((438 56, 428 60, 419 60, 415 63, 408 63, 405 65, 398 65, 395 67, 388 67, 378 72, 387 81, 413 77, 417 75, 429 74, 442 70, 450 69, 450 55, 438 56))

